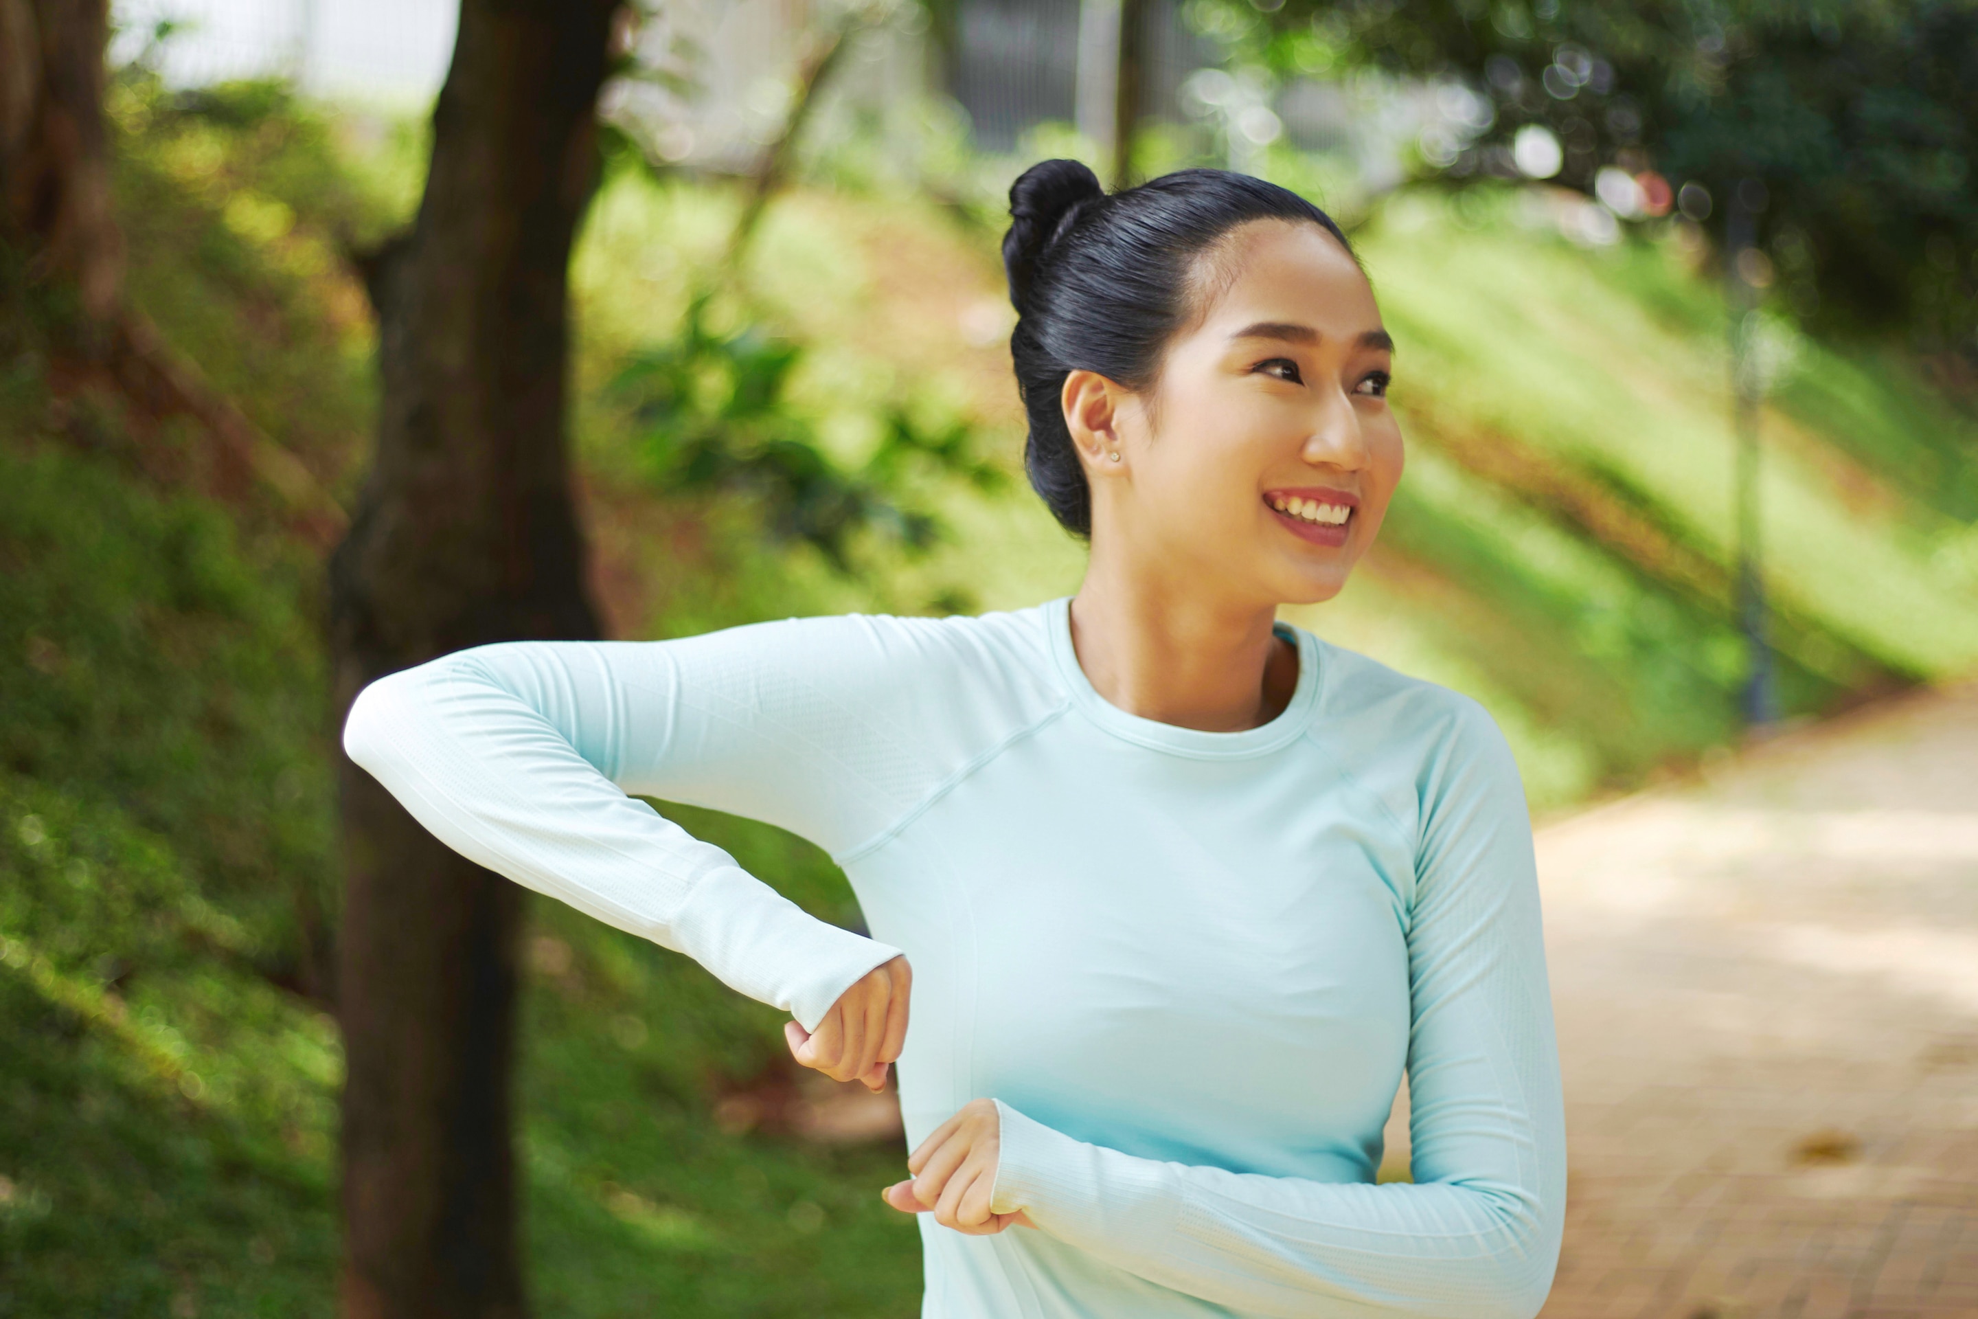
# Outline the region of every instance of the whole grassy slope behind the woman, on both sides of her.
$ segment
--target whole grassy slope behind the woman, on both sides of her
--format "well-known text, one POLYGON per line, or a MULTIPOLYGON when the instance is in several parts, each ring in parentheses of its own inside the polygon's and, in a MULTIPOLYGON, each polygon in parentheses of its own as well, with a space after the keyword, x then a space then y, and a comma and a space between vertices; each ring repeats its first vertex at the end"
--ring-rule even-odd
MULTIPOLYGON (((307 117, 150 113, 123 107, 135 295, 348 490, 368 330, 328 237, 382 223, 390 198, 348 184, 307 117)), ((1021 492, 944 496, 945 550, 845 583, 754 542, 736 510, 639 490, 595 386, 623 346, 667 332, 730 214, 720 194, 619 180, 580 251, 580 451, 621 635, 1072 589, 1076 546, 1021 492)), ((1408 486, 1393 546, 1302 621, 1484 698, 1541 803, 1731 736, 1709 291, 1662 249, 1588 255, 1434 208, 1363 247, 1402 340, 1408 486)), ((799 194, 769 214, 748 289, 815 342, 801 397, 847 451, 874 401, 906 392, 1011 453, 995 279, 985 237, 940 212, 799 194)), ((328 1313, 336 1038, 263 975, 332 892, 316 568, 253 518, 138 483, 113 401, 49 409, 32 370, 4 386, 0 1311, 328 1313), (97 449, 36 439, 53 431, 97 449)), ((1768 413, 1800 708, 1970 664, 1970 560, 1944 554, 1978 500, 1970 425, 1921 397, 1899 366, 1802 346, 1768 413)), ((849 920, 843 880, 805 844, 682 821, 849 920)), ((872 1194, 898 1151, 710 1119, 720 1088, 777 1056, 773 1012, 550 904, 532 963, 544 1313, 914 1313, 914 1232, 872 1194)))

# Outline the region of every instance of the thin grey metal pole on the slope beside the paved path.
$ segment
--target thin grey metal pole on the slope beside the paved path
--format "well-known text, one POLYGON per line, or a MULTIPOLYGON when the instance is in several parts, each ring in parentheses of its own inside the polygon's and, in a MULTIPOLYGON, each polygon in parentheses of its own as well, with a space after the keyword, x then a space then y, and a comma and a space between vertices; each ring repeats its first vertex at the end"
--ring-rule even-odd
POLYGON ((1772 647, 1766 641, 1764 573, 1760 570, 1758 522, 1758 362, 1753 338, 1758 326, 1758 291, 1747 275, 1745 251, 1753 247, 1764 184, 1739 180, 1731 188, 1725 214, 1725 301, 1731 307, 1731 409, 1737 439, 1735 518, 1737 518, 1737 613, 1745 631, 1747 668, 1741 708, 1747 728, 1762 730, 1778 720, 1772 680, 1772 647))

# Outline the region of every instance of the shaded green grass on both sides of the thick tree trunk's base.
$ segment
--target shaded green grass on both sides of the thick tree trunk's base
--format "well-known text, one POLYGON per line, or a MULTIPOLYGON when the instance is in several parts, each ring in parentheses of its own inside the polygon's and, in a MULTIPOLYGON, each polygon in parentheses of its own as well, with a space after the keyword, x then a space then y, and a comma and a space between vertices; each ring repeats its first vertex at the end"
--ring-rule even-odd
MULTIPOLYGON (((0 1313, 330 1313, 338 1042, 275 985, 330 866, 324 690, 309 577, 247 550, 113 459, 0 445, 0 1313)), ((669 813, 854 920, 809 844, 669 813)), ((775 1011, 566 908, 532 937, 570 949, 520 1076, 544 1313, 916 1311, 904 1149, 714 1127, 775 1011)))

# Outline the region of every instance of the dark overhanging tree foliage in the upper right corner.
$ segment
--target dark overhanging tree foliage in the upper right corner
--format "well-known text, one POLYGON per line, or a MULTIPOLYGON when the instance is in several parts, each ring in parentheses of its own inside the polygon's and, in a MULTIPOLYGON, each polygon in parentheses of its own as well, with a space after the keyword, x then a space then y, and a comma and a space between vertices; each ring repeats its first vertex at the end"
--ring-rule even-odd
POLYGON ((1561 182, 1656 168, 1713 202, 1764 184, 1758 243, 1818 328, 1978 354, 1978 4, 1972 0, 1197 0, 1201 26, 1286 75, 1464 81, 1485 129, 1452 178, 1513 176, 1541 123, 1561 182))

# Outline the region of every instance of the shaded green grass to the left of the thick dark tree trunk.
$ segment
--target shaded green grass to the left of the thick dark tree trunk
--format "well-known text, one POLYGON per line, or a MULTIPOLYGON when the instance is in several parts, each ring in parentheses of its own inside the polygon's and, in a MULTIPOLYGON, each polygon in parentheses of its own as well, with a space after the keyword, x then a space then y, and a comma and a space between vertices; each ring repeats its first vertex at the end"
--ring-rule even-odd
POLYGON ((0 1313, 326 1313, 322 664, 281 546, 0 449, 0 1313))

